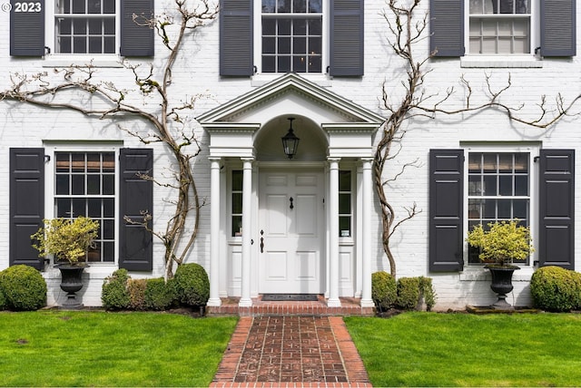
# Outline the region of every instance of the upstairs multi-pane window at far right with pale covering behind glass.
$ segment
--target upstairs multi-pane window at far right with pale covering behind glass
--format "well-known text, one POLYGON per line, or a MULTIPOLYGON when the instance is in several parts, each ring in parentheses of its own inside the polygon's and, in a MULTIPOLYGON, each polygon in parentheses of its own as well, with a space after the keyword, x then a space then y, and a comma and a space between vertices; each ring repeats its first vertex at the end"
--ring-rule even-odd
POLYGON ((471 54, 530 53, 531 0, 469 0, 471 54))

